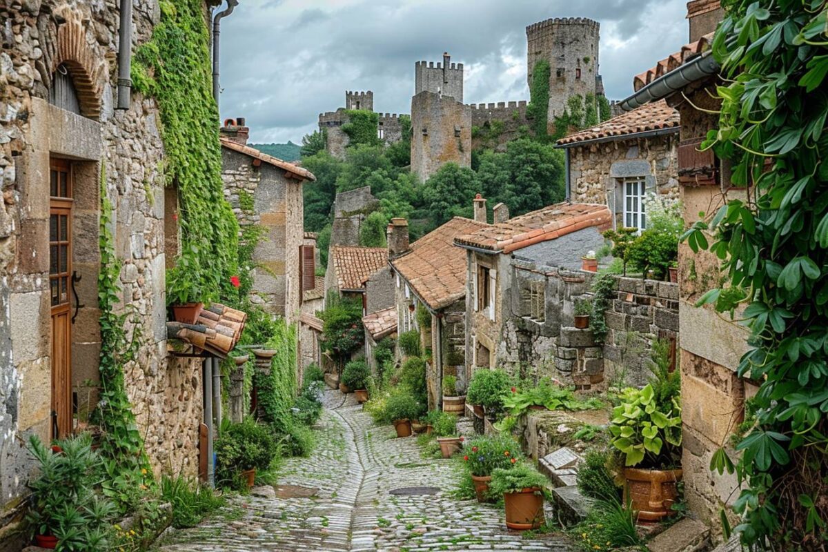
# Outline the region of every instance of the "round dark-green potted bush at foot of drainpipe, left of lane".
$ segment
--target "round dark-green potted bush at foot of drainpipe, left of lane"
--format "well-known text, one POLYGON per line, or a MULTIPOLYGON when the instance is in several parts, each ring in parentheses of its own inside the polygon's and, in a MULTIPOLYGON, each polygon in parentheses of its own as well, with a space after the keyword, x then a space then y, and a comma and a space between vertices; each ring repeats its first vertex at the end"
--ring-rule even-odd
POLYGON ((279 444, 272 430, 253 418, 222 426, 215 441, 216 480, 224 487, 249 489, 256 481, 256 472, 269 468, 277 457, 279 444))

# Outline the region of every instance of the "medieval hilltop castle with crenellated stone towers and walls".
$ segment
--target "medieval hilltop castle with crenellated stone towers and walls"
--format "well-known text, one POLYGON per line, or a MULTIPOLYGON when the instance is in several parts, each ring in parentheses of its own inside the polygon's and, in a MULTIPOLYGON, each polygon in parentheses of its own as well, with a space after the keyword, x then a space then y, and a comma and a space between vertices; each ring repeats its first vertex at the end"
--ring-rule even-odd
MULTIPOLYGON (((599 23, 583 17, 556 17, 526 28, 527 82, 539 60, 550 67, 548 121, 552 123, 566 110, 574 95, 604 95, 599 68, 599 23)), ((412 97, 412 172, 428 179, 440 166, 455 162, 471 165, 471 151, 480 129, 497 125, 495 137, 503 144, 518 136, 527 126, 527 101, 463 103, 463 64, 452 63, 448 53, 442 62, 417 61, 414 65, 412 97), (473 132, 473 129, 475 132, 473 132)), ((327 151, 344 157, 349 137, 342 125, 348 111, 373 111, 373 92, 345 93, 345 107, 320 113, 320 131, 327 134, 327 151)), ((378 137, 385 143, 402 140, 402 124, 397 113, 379 113, 378 137)))

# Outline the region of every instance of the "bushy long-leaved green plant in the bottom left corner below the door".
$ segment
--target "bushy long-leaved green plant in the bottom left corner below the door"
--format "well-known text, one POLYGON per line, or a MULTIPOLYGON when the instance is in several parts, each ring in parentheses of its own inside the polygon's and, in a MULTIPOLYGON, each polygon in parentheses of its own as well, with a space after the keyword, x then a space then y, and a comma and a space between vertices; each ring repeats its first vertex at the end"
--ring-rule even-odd
POLYGON ((36 435, 29 450, 39 464, 28 483, 31 509, 26 516, 35 544, 60 550, 108 550, 110 526, 117 508, 96 494, 101 483, 101 460, 88 434, 61 439, 54 454, 36 435))

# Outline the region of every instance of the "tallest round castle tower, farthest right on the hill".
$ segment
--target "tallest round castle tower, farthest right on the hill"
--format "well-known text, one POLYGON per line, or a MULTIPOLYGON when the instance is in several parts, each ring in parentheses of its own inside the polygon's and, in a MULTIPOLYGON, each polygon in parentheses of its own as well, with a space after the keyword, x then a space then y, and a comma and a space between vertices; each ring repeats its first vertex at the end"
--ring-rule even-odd
POLYGON ((527 78, 538 60, 549 62, 549 122, 575 94, 603 94, 598 73, 599 23, 585 17, 556 17, 526 27, 527 78))

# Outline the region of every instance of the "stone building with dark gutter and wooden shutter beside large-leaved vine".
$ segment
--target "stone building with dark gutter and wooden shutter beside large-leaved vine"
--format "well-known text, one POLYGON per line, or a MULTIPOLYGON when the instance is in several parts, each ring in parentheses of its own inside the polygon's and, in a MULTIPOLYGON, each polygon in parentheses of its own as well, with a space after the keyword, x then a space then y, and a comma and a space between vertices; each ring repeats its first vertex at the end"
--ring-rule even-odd
MULTIPOLYGON (((710 52, 710 33, 722 11, 718 0, 694 0, 687 7, 691 43, 638 74, 633 80, 635 93, 622 107, 634 109, 666 98, 681 113, 678 181, 685 219, 692 221, 699 211, 718 209, 724 191, 739 197, 745 190, 731 187, 727 166, 712 150, 697 149, 706 133, 718 125, 719 104, 713 89, 720 68, 710 52)), ((715 286, 719 266, 710 252, 696 254, 686 243, 680 244, 681 466, 686 501, 701 520, 717 519, 720 506, 732 505, 738 496, 735 476, 711 472, 710 458, 729 443, 729 435, 743 420, 745 398, 757 389, 737 373, 739 359, 748 349, 746 330, 725 320, 711 305, 695 305, 715 286)))

